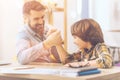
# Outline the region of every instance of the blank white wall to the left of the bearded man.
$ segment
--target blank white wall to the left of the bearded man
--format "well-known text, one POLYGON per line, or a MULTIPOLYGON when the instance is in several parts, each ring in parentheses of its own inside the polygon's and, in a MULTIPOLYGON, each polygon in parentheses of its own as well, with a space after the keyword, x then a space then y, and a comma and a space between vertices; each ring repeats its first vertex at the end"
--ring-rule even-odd
POLYGON ((0 0, 0 57, 12 59, 18 27, 22 25, 22 0, 0 0))

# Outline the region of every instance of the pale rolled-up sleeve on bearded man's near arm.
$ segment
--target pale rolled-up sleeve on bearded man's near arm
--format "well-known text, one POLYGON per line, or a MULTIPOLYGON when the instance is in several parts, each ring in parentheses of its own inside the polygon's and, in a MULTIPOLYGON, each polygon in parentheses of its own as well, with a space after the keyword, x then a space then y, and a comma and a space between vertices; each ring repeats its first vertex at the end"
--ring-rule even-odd
POLYGON ((48 55, 48 50, 45 50, 42 42, 31 46, 29 39, 20 39, 17 44, 17 58, 21 64, 28 64, 35 61, 40 56, 48 55))

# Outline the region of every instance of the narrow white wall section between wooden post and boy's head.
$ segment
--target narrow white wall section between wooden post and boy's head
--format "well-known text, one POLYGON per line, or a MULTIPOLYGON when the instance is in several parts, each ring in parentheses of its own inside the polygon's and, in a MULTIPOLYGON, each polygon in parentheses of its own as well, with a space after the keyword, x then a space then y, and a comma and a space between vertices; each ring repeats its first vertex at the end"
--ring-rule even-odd
MULTIPOLYGON (((80 1, 79 1, 80 2, 80 1)), ((68 52, 73 53, 76 51, 77 46, 73 42, 73 36, 71 35, 71 26, 77 20, 80 20, 81 17, 81 6, 77 5, 77 0, 67 0, 67 41, 68 41, 68 52), (80 11, 78 11, 80 10, 80 11)), ((79 3, 80 4, 80 3, 79 3)))

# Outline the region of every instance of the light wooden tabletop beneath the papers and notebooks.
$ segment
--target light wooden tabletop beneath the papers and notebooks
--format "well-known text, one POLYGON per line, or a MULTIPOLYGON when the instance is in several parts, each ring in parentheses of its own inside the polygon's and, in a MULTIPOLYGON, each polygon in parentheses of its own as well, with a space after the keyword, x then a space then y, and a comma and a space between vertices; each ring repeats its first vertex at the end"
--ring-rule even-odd
POLYGON ((63 67, 59 63, 31 63, 29 65, 20 65, 13 63, 11 65, 0 66, 0 80, 120 80, 120 67, 114 66, 111 69, 100 69, 100 74, 93 74, 87 76, 68 77, 61 75, 50 75, 50 74, 16 74, 11 73, 5 74, 1 70, 7 68, 16 67, 35 67, 35 68, 60 68, 63 67))

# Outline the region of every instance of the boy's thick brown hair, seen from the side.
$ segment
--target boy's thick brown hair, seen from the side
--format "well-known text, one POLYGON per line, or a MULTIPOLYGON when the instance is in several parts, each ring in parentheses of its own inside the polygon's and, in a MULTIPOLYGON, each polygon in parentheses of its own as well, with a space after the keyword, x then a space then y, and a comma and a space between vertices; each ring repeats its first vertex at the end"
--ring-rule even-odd
POLYGON ((103 33, 100 25, 93 19, 82 19, 75 22, 71 27, 73 36, 77 36, 85 42, 90 42, 92 45, 103 43, 103 33))

